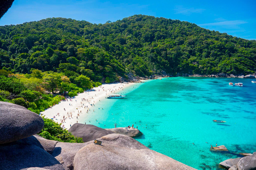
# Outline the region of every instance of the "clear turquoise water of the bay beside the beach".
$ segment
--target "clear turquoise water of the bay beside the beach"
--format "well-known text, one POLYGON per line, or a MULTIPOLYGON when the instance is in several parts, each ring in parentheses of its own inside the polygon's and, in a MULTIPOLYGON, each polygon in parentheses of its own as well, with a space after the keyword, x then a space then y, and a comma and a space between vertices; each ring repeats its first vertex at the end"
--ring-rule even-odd
POLYGON ((236 153, 256 151, 255 89, 251 79, 151 80, 122 91, 126 99, 100 102, 89 120, 100 128, 138 125, 143 135, 135 139, 150 149, 197 169, 219 169, 223 160, 239 157, 236 153), (216 143, 231 152, 211 152, 210 145, 216 143))

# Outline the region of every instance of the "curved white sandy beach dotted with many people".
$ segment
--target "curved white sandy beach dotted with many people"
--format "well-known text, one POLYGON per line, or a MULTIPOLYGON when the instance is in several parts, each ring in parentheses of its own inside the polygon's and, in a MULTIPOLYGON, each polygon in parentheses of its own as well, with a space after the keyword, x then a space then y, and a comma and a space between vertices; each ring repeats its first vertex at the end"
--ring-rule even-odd
POLYGON ((62 128, 69 129, 77 122, 85 123, 86 115, 94 112, 97 103, 104 102, 109 94, 119 94, 125 87, 132 84, 134 83, 102 84, 102 86, 93 88, 91 91, 85 91, 74 98, 67 98, 68 101, 61 101, 58 105, 41 112, 41 116, 52 118, 55 122, 61 123, 62 128), (64 116, 65 118, 63 118, 64 116))

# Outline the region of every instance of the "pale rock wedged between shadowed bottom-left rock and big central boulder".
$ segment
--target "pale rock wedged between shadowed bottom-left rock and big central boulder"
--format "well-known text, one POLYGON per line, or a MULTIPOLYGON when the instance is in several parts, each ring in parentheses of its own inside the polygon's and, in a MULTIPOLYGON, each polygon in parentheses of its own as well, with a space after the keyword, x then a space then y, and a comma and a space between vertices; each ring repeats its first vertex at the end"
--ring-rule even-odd
POLYGON ((61 163, 63 168, 71 170, 74 169, 73 160, 76 152, 90 143, 93 143, 93 141, 87 143, 58 142, 51 155, 61 163))

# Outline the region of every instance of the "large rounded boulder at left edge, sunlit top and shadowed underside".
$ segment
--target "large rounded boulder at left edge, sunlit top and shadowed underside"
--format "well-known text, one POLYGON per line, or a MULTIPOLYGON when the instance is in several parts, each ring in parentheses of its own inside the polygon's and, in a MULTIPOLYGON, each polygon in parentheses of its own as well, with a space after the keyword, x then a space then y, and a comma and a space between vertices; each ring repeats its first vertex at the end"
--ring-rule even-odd
POLYGON ((40 132, 42 117, 23 106, 0 101, 0 144, 17 141, 40 132))

